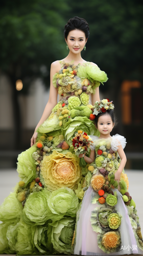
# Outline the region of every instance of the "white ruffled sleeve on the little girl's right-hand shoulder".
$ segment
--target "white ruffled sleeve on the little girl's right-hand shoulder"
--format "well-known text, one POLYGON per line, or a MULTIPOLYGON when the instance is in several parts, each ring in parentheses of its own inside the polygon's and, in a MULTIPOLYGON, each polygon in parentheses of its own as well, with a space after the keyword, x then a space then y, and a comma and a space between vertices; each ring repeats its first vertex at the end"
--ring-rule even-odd
POLYGON ((123 150, 126 146, 126 138, 124 136, 121 136, 119 134, 113 135, 112 136, 112 141, 111 141, 111 148, 113 151, 117 151, 118 150, 118 146, 122 145, 123 150))

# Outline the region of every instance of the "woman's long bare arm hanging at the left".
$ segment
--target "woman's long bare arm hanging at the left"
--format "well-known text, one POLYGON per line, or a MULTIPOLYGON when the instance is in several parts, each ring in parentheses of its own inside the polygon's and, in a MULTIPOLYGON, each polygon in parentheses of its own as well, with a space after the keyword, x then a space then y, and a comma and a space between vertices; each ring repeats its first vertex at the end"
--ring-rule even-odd
POLYGON ((58 96, 58 91, 57 89, 53 86, 53 76, 55 73, 59 72, 60 70, 60 63, 59 61, 55 61, 51 64, 51 71, 50 71, 50 95, 49 95, 49 100, 45 106, 45 109, 43 111, 43 114, 41 116, 40 121, 38 122, 34 134, 31 138, 31 146, 33 146, 36 143, 36 138, 37 138, 37 129, 38 127, 50 116, 52 109, 54 106, 57 104, 57 96, 58 96))

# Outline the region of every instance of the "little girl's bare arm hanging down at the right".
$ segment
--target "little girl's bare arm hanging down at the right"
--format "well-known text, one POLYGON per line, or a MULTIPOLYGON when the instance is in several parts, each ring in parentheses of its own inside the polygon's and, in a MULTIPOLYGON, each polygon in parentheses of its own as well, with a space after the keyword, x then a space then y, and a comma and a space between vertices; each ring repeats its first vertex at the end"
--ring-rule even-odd
POLYGON ((121 163, 120 163, 120 166, 118 167, 117 172, 115 173, 115 180, 117 180, 117 182, 119 182, 120 181, 120 175, 121 175, 121 173, 122 173, 122 171, 125 167, 125 164, 127 162, 127 158, 126 158, 126 155, 125 155, 125 152, 123 150, 122 145, 118 146, 117 153, 121 158, 121 163))

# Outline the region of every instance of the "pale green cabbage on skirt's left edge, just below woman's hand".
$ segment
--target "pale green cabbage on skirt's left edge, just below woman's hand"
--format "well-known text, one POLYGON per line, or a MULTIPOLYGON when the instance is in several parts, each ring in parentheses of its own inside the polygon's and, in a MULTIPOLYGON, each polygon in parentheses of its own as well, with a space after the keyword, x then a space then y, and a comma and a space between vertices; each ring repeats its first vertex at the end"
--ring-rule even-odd
POLYGON ((36 176, 36 161, 32 157, 32 154, 36 150, 37 147, 33 145, 28 150, 23 151, 20 155, 18 155, 17 158, 17 172, 21 180, 25 182, 25 186, 36 176))

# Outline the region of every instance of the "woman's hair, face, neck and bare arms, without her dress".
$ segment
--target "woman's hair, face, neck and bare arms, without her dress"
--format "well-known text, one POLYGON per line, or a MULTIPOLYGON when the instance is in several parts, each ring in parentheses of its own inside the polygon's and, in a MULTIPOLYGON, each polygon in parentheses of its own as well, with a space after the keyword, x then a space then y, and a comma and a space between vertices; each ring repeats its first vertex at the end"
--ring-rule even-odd
MULTIPOLYGON (((81 52, 83 49, 86 49, 85 45, 87 42, 87 39, 89 37, 89 26, 85 19, 74 17, 68 20, 68 23, 65 25, 64 29, 64 38, 67 44, 67 49, 69 49, 68 55, 62 59, 61 61, 64 61, 65 63, 70 63, 74 60, 74 64, 78 65, 79 63, 81 65, 84 65, 87 63, 86 60, 84 60, 81 57, 81 52)), ((97 66, 95 63, 90 62, 93 66, 97 66)), ((35 132, 31 138, 31 146, 35 144, 36 138, 37 138, 37 128, 42 124, 47 117, 50 116, 52 109, 57 104, 57 89, 53 86, 53 76, 55 73, 58 73, 61 69, 61 64, 59 60, 56 60, 51 65, 51 82, 50 82, 50 96, 49 101, 47 102, 43 115, 39 121, 39 123, 36 126, 35 132)), ((92 94, 92 104, 96 102, 97 100, 100 100, 99 96, 99 88, 96 90, 96 94, 92 94)))

